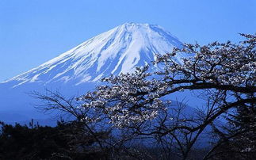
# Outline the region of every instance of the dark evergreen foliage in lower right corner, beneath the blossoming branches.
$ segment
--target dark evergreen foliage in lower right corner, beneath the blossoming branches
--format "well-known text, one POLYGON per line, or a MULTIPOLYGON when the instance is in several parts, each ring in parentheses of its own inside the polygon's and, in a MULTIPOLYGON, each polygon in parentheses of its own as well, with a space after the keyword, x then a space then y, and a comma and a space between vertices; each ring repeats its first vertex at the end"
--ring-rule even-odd
POLYGON ((212 159, 254 159, 256 156, 256 101, 241 105, 227 116, 228 125, 214 128, 218 142, 208 152, 212 159))

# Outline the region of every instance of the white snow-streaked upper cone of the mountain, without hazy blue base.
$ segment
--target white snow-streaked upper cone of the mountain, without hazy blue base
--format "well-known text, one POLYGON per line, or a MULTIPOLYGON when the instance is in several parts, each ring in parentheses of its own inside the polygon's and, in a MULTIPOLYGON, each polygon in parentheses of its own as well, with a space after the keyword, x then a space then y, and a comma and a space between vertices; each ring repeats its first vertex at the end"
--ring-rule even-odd
POLYGON ((97 82, 110 74, 132 72, 155 60, 155 54, 164 54, 181 44, 159 25, 125 23, 7 82, 14 82, 14 87, 31 82, 97 82))

